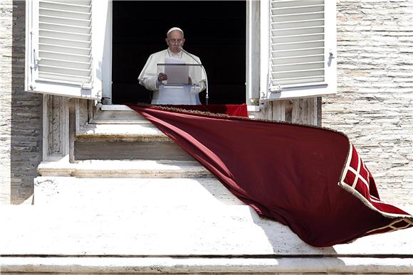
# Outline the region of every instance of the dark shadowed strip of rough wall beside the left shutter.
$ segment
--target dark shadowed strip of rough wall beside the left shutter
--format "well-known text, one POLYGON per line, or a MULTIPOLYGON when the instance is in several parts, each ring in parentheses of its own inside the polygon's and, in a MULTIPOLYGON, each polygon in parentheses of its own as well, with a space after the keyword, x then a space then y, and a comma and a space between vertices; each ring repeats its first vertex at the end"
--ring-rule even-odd
POLYGON ((42 158, 43 96, 24 92, 25 1, 13 1, 11 56, 11 204, 33 195, 42 158))

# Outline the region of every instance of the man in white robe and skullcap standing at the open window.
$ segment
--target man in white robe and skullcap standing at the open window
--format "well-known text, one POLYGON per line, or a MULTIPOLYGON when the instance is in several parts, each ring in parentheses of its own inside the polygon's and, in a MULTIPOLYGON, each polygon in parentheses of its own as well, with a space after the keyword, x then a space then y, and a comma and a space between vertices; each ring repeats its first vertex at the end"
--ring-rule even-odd
POLYGON ((201 60, 196 55, 182 50, 185 38, 184 32, 180 28, 171 28, 167 32, 165 41, 168 48, 150 55, 137 78, 139 84, 145 86, 147 90, 153 91, 151 104, 200 104, 198 94, 206 87, 206 75, 200 67, 189 70, 189 80, 192 86, 187 92, 177 92, 176 97, 173 99, 169 97, 166 101, 162 99, 162 96, 160 97, 160 86, 162 81, 167 80, 167 75, 163 72, 157 72, 157 64, 165 63, 167 57, 178 58, 186 64, 201 64, 201 60), (194 70, 199 70, 199 73, 195 73, 194 70))

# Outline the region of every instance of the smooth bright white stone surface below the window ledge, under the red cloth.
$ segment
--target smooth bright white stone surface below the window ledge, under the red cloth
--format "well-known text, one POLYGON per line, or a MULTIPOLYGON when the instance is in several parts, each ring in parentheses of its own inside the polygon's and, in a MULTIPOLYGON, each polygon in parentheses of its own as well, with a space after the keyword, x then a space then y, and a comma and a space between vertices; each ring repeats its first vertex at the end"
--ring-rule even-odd
POLYGON ((413 229, 310 247, 211 179, 40 179, 35 205, 0 208, 0 254, 413 257, 413 229))

